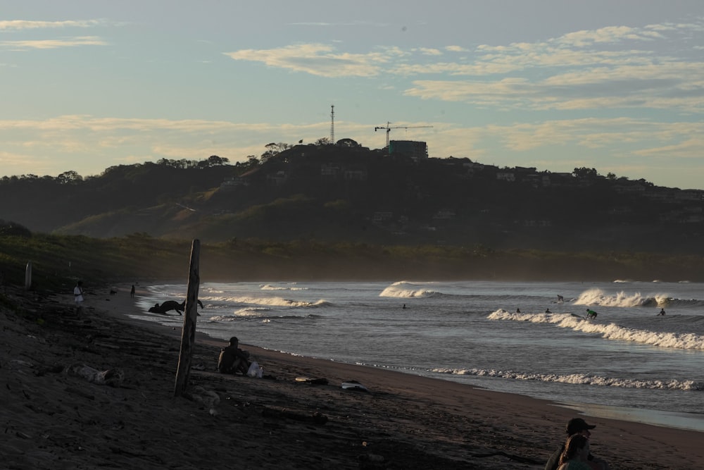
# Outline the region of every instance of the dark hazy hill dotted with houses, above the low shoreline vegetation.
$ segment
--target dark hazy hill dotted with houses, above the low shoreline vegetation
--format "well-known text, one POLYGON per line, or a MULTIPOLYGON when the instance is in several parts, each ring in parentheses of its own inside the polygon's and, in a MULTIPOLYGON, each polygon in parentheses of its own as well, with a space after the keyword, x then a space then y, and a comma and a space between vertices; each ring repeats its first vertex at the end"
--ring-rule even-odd
POLYGON ((203 242, 704 254, 704 192, 598 175, 498 168, 336 145, 284 146, 230 165, 170 161, 82 178, 0 180, 0 219, 32 232, 203 242))

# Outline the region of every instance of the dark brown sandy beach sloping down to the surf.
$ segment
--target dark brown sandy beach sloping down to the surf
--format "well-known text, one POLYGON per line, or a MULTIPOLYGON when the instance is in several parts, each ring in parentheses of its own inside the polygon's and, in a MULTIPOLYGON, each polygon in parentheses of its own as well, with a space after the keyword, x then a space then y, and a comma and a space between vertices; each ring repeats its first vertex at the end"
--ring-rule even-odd
MULTIPOLYGON (((174 397, 180 329, 128 318, 137 312, 130 285, 117 290, 89 289, 80 318, 70 292, 6 286, 0 295, 1 468, 542 469, 579 415, 256 345, 241 347, 263 378, 223 375, 225 342, 205 335, 196 335, 187 394, 174 397), (346 381, 368 392, 344 390, 346 381)), ((612 469, 704 462, 702 433, 583 417, 597 426, 593 454, 612 469)))

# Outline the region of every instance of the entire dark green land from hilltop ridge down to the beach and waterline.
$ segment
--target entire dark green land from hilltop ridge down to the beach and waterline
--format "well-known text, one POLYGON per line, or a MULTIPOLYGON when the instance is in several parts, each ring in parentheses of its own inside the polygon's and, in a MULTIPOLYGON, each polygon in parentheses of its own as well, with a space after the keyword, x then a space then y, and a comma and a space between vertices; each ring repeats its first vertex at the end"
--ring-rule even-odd
POLYGON ((413 159, 355 142, 269 144, 0 179, 0 269, 35 283, 203 280, 702 280, 702 192, 593 168, 571 174, 413 159))

